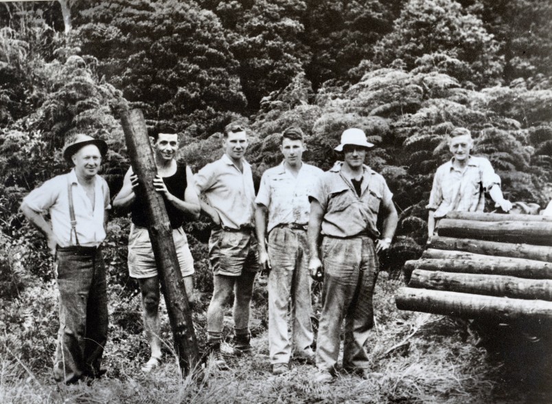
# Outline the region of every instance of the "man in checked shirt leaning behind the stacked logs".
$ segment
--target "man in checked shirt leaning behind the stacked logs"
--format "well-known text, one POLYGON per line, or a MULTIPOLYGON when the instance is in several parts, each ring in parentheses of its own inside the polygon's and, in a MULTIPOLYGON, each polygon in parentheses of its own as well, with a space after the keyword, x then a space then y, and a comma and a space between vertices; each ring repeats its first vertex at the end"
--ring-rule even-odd
POLYGON ((473 146, 468 129, 455 128, 450 133, 448 147, 452 159, 437 168, 426 206, 430 237, 435 232, 436 222, 448 212, 483 212, 485 192, 489 192, 496 206, 504 212, 511 210, 511 202, 503 197, 500 177, 485 157, 470 155, 473 146))

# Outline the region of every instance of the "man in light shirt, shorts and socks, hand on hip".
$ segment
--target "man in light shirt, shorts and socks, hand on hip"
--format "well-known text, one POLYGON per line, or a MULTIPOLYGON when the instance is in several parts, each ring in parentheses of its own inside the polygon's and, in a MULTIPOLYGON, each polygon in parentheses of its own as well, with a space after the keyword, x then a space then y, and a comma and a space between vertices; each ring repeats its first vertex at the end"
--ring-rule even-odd
POLYGON ((227 368, 220 344, 224 308, 232 293, 234 353, 251 352, 249 305, 259 264, 254 232, 253 174, 244 159, 247 145, 244 128, 227 126, 223 141, 225 154, 195 175, 198 191, 204 197, 200 199, 201 209, 216 225, 209 238, 214 291, 207 310, 207 344, 215 365, 221 369, 227 368))

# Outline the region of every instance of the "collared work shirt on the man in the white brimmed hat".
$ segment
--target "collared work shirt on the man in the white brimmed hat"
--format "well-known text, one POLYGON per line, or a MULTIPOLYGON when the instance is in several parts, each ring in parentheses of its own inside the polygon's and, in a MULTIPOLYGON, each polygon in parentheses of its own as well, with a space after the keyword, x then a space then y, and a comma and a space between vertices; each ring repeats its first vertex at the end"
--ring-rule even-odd
POLYGON ((351 237, 368 232, 374 238, 380 236, 376 227, 382 203, 393 203, 393 193, 385 179, 368 166, 363 166, 360 197, 352 182, 341 172, 339 162, 324 172, 318 185, 309 194, 316 199, 324 212, 322 234, 333 237, 351 237))

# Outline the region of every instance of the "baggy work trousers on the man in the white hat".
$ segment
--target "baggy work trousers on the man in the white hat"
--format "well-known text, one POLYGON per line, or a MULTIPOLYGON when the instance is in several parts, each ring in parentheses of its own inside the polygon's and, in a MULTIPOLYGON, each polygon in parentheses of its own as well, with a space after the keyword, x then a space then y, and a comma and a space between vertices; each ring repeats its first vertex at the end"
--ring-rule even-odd
POLYGON ((322 314, 317 339, 317 368, 334 371, 339 355, 341 324, 345 319, 343 368, 369 367, 364 348, 373 326, 373 288, 378 256, 368 236, 325 237, 321 247, 324 267, 322 314))

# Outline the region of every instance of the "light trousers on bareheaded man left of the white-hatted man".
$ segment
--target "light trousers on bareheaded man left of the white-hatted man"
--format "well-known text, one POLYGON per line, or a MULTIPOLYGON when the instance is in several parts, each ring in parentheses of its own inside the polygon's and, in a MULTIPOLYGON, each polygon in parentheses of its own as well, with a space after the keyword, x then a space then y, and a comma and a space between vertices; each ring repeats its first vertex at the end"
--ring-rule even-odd
POLYGON ((271 363, 288 363, 292 346, 288 333, 288 302, 291 298, 293 345, 303 351, 312 344, 310 275, 307 232, 275 227, 268 236, 268 347, 271 363))

